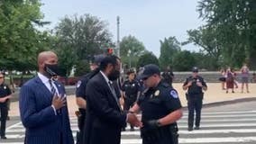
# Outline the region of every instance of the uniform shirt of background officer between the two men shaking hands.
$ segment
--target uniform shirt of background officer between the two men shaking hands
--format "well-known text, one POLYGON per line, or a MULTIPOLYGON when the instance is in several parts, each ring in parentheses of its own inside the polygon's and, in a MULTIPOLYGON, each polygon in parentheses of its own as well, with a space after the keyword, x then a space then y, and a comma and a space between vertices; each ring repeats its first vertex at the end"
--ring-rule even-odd
POLYGON ((125 95, 128 97, 132 95, 137 97, 137 94, 140 91, 140 85, 136 80, 133 80, 131 82, 129 80, 125 80, 123 82, 121 90, 125 92, 125 95))

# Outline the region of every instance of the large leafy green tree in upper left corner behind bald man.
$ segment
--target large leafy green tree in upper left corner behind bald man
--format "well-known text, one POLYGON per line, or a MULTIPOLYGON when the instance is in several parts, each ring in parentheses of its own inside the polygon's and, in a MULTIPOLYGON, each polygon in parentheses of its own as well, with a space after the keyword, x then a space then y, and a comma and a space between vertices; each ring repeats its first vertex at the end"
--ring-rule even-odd
POLYGON ((34 70, 36 56, 43 48, 45 34, 38 0, 3 0, 0 4, 0 67, 8 70, 34 70))

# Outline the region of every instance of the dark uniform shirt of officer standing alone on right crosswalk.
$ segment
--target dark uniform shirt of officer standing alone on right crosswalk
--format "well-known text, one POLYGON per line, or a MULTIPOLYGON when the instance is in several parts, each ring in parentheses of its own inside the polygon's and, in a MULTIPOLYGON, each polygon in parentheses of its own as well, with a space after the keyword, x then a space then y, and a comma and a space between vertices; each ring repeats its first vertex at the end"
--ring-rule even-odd
POLYGON ((192 85, 190 85, 188 87, 187 93, 188 94, 201 94, 203 93, 202 91, 202 87, 197 85, 197 82, 201 82, 203 86, 206 86, 206 82, 204 80, 204 78, 202 76, 197 76, 197 77, 193 77, 193 76, 189 76, 187 77, 186 81, 184 82, 184 85, 187 85, 187 83, 189 81, 192 81, 192 85))

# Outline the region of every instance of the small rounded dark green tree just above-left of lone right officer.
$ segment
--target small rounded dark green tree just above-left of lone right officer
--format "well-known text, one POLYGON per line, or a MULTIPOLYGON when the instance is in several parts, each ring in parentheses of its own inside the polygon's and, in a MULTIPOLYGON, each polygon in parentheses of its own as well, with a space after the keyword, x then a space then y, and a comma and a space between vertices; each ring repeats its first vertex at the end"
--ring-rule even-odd
POLYGON ((188 71, 197 66, 196 59, 188 50, 178 52, 173 58, 173 69, 177 71, 188 71))

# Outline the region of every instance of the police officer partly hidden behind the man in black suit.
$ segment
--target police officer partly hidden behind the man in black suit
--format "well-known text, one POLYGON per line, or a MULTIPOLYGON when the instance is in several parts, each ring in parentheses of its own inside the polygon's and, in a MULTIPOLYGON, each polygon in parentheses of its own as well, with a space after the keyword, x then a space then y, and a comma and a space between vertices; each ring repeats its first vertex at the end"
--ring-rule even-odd
POLYGON ((86 120, 86 108, 87 108, 87 98, 86 98, 86 87, 87 87, 87 82, 88 80, 95 76, 99 70, 97 69, 97 67, 99 66, 101 60, 105 58, 105 55, 96 55, 94 56, 93 60, 90 63, 90 70, 91 72, 88 73, 85 76, 82 76, 80 78, 80 80, 78 80, 77 83, 77 89, 76 89, 76 101, 78 104, 78 112, 76 112, 77 116, 78 116, 78 143, 81 140, 82 137, 82 132, 84 130, 84 124, 85 124, 85 120, 86 120))

